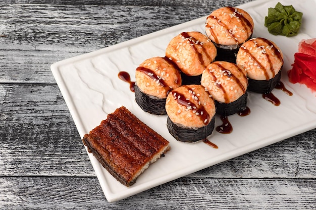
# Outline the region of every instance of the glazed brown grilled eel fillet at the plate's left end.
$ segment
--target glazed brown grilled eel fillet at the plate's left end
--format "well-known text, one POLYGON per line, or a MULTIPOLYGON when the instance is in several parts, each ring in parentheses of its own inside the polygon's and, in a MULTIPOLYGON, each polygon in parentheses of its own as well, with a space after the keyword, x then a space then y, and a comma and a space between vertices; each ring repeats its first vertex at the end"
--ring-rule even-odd
POLYGON ((125 186, 135 183, 148 166, 169 149, 169 142, 124 106, 85 134, 88 152, 125 186))

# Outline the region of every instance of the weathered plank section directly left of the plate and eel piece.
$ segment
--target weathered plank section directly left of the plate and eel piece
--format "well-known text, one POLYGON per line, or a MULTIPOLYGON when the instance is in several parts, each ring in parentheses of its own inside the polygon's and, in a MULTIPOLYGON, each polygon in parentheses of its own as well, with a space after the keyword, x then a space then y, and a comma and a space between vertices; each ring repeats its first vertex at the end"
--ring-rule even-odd
POLYGON ((94 174, 57 85, 0 85, 0 101, 2 175, 94 174))

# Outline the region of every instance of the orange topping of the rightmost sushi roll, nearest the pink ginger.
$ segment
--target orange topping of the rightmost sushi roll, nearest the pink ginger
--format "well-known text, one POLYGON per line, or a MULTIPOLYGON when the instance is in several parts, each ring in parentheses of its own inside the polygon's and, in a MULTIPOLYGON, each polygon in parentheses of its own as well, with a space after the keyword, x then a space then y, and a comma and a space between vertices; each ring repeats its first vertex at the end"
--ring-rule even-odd
POLYGON ((280 48, 265 38, 253 38, 241 45, 236 62, 253 80, 270 80, 283 66, 280 48))

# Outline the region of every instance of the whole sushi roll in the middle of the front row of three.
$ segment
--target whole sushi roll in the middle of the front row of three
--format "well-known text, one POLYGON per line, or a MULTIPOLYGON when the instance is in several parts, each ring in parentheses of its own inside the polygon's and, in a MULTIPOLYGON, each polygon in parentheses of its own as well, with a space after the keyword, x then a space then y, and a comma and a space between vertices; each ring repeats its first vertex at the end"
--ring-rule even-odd
POLYGON ((201 85, 212 95, 217 114, 228 116, 246 109, 248 80, 245 70, 235 63, 209 64, 202 74, 201 85))

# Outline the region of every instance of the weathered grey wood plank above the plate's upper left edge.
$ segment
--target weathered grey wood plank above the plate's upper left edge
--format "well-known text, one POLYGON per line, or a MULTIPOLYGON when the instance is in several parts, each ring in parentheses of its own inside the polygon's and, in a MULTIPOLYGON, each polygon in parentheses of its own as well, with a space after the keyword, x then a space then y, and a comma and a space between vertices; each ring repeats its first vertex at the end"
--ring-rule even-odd
POLYGON ((216 6, 0 7, 0 82, 55 83, 51 63, 202 17, 216 6))

